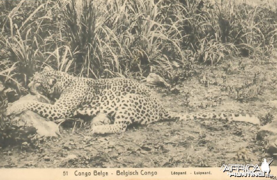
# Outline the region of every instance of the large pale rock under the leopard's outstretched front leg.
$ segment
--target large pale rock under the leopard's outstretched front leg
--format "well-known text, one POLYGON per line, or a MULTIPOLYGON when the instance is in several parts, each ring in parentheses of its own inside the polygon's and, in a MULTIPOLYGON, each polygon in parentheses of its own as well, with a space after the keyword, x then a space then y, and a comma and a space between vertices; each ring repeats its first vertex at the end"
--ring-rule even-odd
MULTIPOLYGON (((37 100, 43 103, 50 103, 50 100, 39 95, 26 95, 15 101, 14 103, 22 103, 26 101, 37 100)), ((15 115, 11 119, 11 123, 16 126, 34 127, 37 130, 38 137, 58 137, 59 127, 53 121, 47 120, 33 111, 25 111, 19 115, 15 115)), ((31 129, 31 128, 30 128, 31 129)))

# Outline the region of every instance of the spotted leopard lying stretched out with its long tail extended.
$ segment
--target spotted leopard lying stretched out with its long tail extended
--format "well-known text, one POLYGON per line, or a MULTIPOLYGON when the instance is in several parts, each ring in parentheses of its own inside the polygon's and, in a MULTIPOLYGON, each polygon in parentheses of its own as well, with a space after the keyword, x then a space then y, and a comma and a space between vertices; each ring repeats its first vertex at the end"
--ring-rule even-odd
POLYGON ((49 120, 78 115, 95 117, 98 114, 112 117, 113 120, 109 123, 92 126, 93 134, 122 133, 131 124, 146 125, 159 120, 237 117, 225 113, 174 114, 163 106, 157 94, 149 86, 125 77, 106 79, 76 77, 46 66, 41 72, 34 73, 28 87, 47 97, 59 98, 53 104, 35 100, 13 103, 6 110, 7 116, 31 110, 49 120))

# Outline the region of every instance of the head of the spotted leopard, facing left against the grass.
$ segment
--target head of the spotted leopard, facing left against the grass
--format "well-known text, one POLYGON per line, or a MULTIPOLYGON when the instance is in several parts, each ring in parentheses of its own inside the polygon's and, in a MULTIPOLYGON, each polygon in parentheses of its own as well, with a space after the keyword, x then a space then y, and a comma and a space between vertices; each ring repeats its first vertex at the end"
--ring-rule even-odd
POLYGON ((59 74, 50 67, 45 67, 42 72, 36 72, 30 81, 28 87, 33 93, 52 96, 58 92, 59 74))

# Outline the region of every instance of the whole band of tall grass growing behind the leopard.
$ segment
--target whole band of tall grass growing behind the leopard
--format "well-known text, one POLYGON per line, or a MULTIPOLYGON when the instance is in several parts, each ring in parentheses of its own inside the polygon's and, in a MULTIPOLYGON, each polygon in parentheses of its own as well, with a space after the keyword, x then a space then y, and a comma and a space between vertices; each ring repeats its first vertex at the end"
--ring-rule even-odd
MULTIPOLYGON (((1 3, 6 14, 0 21, 0 58, 5 60, 0 64, 0 79, 17 89, 46 64, 85 77, 143 78, 155 70, 170 74, 187 64, 216 64, 238 55, 266 61, 277 48, 277 4, 251 6, 234 0, 1 3)), ((164 77, 174 79, 173 74, 164 77)))

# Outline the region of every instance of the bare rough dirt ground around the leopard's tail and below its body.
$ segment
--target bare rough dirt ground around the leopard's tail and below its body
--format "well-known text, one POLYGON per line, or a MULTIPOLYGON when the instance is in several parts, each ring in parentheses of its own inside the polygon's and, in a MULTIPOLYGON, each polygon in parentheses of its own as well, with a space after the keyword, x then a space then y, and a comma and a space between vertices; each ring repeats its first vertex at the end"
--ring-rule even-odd
MULTIPOLYGON (((178 85, 179 93, 165 93, 155 88, 167 109, 185 112, 249 113, 259 118, 267 113, 276 120, 277 62, 235 59, 217 66, 198 67, 203 78, 189 78, 178 85), (226 83, 219 76, 226 71, 226 83), (243 67, 243 68, 241 68, 243 67), (229 71, 229 72, 228 72, 229 71), (236 100, 223 84, 240 87, 260 73, 262 90, 256 97, 236 100), (214 83, 216 81, 217 83, 214 83)), ((256 140, 258 125, 228 120, 161 121, 129 128, 122 134, 90 135, 89 125, 72 133, 66 123, 59 138, 42 138, 32 149, 0 149, 0 167, 14 168, 84 168, 84 167, 219 167, 222 164, 261 164, 271 158, 262 141, 256 140)), ((273 161, 271 166, 276 166, 273 161)))

